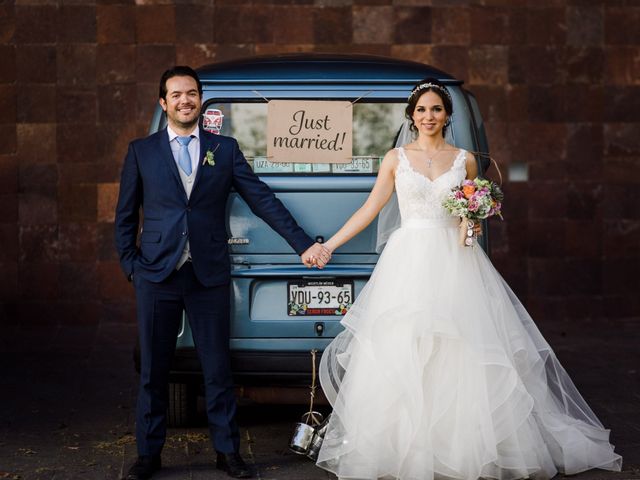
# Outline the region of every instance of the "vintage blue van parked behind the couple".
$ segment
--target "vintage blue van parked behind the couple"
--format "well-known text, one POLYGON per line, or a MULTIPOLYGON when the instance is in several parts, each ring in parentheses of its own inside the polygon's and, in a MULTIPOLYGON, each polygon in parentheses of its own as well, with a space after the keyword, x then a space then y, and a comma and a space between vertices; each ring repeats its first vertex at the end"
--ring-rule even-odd
MULTIPOLYGON (((209 65, 198 75, 204 90, 203 127, 235 137, 253 170, 320 242, 365 201, 382 157, 395 146, 407 96, 425 77, 439 79, 451 92, 454 115, 447 140, 487 152, 476 155, 480 171, 489 162, 475 98, 462 81, 428 65, 374 56, 293 54, 209 65), (266 157, 267 104, 275 99, 352 102, 353 161, 271 163, 266 157)), ((149 133, 165 126, 158 106, 149 133)), ((344 312, 378 259, 376 222, 339 248, 323 270, 304 267, 291 247, 236 193, 228 201, 227 232, 235 380, 241 392, 254 400, 274 399, 273 390, 259 387, 308 385, 310 351, 322 352, 339 332, 344 312), (322 301, 310 306, 304 301, 310 293, 322 301)), ((486 248, 487 235, 481 240, 486 248)), ((199 372, 189 323, 183 319, 171 373, 171 424, 188 422, 195 410, 199 372)), ((287 401, 283 396, 275 400, 287 401)))

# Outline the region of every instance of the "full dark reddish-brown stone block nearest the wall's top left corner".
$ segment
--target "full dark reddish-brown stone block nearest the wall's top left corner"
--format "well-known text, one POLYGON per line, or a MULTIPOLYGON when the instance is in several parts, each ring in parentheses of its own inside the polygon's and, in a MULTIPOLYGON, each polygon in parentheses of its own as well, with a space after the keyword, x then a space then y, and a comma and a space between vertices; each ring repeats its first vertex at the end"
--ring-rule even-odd
POLYGON ((16 43, 55 43, 58 37, 58 8, 55 5, 17 6, 16 43))

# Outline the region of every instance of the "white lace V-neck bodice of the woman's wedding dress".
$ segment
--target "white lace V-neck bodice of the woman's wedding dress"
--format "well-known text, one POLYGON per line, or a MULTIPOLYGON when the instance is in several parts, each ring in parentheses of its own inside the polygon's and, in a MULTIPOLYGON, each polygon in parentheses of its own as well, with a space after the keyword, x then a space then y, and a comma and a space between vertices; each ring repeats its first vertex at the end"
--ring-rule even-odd
POLYGON ((404 148, 399 147, 397 150, 399 161, 396 167, 396 194, 402 220, 451 217, 442 207, 442 202, 451 189, 460 185, 467 176, 467 152, 460 150, 451 168, 435 180, 430 180, 411 166, 404 148))

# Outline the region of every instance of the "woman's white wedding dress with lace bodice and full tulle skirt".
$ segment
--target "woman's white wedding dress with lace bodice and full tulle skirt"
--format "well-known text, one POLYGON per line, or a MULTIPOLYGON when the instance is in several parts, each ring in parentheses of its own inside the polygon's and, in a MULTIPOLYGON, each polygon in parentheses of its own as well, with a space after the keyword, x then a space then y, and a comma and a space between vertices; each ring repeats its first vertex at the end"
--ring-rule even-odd
POLYGON ((520 301, 398 149, 402 226, 325 350, 333 406, 318 466, 345 479, 553 477, 622 458, 520 301))

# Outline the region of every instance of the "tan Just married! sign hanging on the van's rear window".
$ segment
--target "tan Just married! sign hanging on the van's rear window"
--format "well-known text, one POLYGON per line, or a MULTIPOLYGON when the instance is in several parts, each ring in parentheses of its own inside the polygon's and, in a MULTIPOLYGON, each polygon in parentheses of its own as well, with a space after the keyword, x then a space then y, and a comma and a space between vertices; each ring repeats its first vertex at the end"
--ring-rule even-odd
POLYGON ((267 157, 276 163, 351 163, 351 102, 272 100, 267 157))

